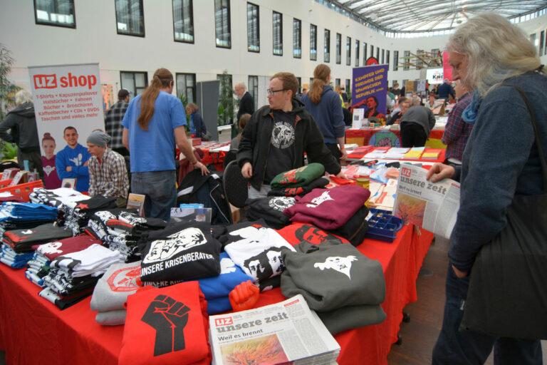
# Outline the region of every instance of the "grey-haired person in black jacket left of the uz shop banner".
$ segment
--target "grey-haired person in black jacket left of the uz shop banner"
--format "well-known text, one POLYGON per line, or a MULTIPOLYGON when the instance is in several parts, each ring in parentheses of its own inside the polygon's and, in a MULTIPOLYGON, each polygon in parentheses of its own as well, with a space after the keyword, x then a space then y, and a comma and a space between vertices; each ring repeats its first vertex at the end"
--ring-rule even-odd
POLYGON ((0 138, 17 145, 19 168, 24 169, 24 161, 27 160, 28 169, 36 169, 40 178, 43 178, 40 141, 31 93, 26 90, 18 91, 15 94, 15 105, 16 108, 0 123, 0 138))

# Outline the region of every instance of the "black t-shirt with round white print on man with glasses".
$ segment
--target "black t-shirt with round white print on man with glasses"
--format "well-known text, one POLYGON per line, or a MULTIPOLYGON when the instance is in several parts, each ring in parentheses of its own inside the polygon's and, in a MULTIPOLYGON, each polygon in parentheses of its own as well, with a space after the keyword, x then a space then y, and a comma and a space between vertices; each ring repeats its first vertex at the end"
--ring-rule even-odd
POLYGON ((294 168, 295 160, 295 114, 282 110, 273 111, 273 130, 271 131, 270 153, 266 163, 264 184, 271 182, 276 175, 294 168))

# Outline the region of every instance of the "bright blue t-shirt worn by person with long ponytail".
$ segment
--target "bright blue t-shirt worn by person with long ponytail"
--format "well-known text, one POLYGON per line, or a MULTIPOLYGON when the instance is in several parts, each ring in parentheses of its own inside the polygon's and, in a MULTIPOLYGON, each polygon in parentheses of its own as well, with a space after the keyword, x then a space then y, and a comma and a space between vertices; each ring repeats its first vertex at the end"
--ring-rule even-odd
POLYGON ((132 173, 174 170, 174 128, 186 125, 186 113, 179 98, 160 91, 148 130, 140 128, 140 96, 130 101, 122 120, 129 130, 132 173))

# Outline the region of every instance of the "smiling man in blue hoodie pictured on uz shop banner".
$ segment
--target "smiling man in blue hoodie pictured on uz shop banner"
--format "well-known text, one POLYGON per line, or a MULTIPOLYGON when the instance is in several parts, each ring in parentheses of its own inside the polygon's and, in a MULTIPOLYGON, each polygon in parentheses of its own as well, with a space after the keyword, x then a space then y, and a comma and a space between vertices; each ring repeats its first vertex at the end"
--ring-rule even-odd
POLYGON ((63 132, 66 147, 59 151, 55 158, 57 175, 60 180, 76 179, 76 190, 83 192, 89 189, 88 160, 91 155, 88 149, 78 143, 78 131, 74 127, 66 127, 63 132))

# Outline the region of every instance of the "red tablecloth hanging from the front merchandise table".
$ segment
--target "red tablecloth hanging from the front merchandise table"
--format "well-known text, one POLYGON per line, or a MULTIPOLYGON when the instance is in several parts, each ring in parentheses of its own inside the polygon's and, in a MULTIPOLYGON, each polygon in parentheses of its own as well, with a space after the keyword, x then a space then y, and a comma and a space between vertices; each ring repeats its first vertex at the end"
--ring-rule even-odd
MULTIPOLYGON (((433 235, 412 226, 400 230, 395 242, 365 240, 360 252, 382 264, 387 319, 335 336, 342 347, 339 364, 387 364, 397 341, 402 309, 414 302, 416 279, 433 235)), ((123 326, 102 327, 95 322, 90 298, 60 311, 38 297, 40 289, 24 277, 24 270, 0 264, 0 349, 7 364, 117 364, 123 326)), ((279 289, 261 294, 257 306, 283 300, 279 289)), ((138 344, 134 344, 138 346, 138 344)))

